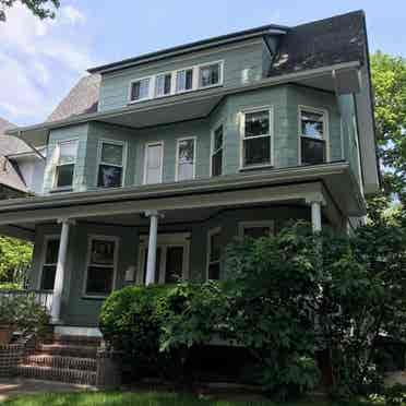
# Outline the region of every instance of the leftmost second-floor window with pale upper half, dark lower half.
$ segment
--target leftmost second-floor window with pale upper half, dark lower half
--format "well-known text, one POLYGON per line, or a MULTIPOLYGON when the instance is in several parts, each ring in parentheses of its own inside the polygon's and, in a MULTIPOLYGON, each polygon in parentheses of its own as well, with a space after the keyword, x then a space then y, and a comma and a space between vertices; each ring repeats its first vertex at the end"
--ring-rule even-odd
POLYGON ((56 188, 70 188, 73 184, 76 163, 77 141, 64 141, 58 144, 58 163, 56 167, 56 188))

